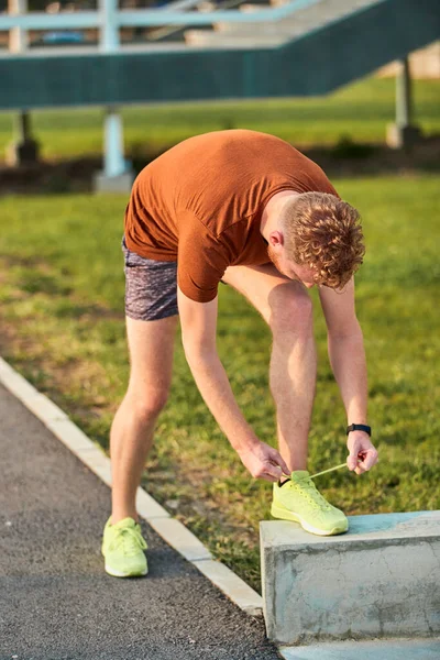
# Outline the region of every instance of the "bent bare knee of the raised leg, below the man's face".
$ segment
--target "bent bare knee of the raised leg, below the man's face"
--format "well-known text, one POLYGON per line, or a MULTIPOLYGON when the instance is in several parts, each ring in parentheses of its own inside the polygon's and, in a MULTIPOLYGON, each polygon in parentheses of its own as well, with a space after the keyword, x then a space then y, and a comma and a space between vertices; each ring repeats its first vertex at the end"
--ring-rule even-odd
POLYGON ((278 292, 271 305, 270 327, 274 339, 286 336, 307 339, 312 334, 314 326, 311 299, 306 292, 298 290, 297 286, 283 286, 285 289, 278 292))

